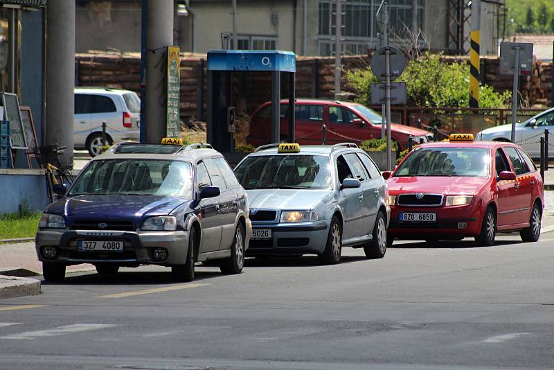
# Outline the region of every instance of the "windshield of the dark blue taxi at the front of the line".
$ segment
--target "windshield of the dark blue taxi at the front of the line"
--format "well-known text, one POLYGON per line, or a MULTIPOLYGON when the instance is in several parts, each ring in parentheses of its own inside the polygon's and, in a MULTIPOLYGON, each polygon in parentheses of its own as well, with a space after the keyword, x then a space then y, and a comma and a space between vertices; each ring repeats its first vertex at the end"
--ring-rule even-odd
POLYGON ((92 161, 69 195, 160 195, 192 198, 191 165, 181 161, 106 159, 92 161))

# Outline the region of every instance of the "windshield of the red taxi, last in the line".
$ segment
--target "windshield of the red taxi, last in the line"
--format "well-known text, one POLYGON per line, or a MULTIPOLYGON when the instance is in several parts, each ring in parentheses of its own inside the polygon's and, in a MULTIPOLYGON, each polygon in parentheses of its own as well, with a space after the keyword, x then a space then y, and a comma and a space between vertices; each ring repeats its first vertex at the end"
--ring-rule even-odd
POLYGON ((420 148, 406 158, 394 177, 487 177, 489 166, 489 150, 486 148, 420 148))

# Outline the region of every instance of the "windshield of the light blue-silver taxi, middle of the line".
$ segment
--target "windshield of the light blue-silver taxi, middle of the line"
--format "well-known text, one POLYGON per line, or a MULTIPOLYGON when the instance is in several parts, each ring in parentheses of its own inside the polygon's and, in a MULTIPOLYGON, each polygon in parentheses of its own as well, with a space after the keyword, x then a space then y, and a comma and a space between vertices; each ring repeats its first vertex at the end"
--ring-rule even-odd
POLYGON ((244 159, 235 174, 245 189, 331 186, 329 157, 323 155, 264 155, 244 159))

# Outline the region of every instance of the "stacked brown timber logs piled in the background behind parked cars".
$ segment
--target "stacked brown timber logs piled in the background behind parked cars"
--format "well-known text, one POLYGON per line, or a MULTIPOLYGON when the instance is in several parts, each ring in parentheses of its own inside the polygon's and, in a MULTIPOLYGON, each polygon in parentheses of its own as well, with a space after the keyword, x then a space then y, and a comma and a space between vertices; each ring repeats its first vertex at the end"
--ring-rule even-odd
MULTIPOLYGON (((163 58, 163 53, 160 53, 163 58)), ((443 62, 468 62, 467 57, 443 57, 443 62)), ((346 71, 368 68, 366 55, 343 57, 342 88, 348 91, 346 71)), ((163 60, 160 61, 160 66, 163 60)), ((129 89, 140 93, 141 71, 139 53, 75 55, 76 77, 79 86, 100 86, 129 89)), ((160 67, 162 68, 162 67, 160 67)), ((533 61, 533 73, 521 76, 520 93, 524 104, 551 105, 551 62, 533 61)), ((206 120, 207 71, 205 54, 181 54, 181 120, 196 117, 206 120)), ((512 77, 499 75, 497 57, 481 58, 481 77, 497 91, 512 89, 512 77)), ((160 81, 163 83, 163 81, 160 81)), ((288 79, 281 79, 281 93, 287 98, 288 79)), ((239 112, 252 114, 262 103, 271 100, 271 74, 262 72, 233 73, 231 80, 233 104, 239 112)), ((334 97, 334 58, 298 57, 296 62, 296 98, 334 97)))

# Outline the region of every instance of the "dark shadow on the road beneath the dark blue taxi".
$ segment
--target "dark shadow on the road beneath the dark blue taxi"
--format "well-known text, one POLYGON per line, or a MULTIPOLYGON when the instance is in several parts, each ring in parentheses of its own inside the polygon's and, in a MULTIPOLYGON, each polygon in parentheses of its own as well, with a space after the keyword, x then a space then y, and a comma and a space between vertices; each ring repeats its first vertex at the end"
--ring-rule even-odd
MULTIPOLYGON (((190 283, 198 283, 217 277, 224 276, 219 268, 206 270, 202 265, 195 268, 195 279, 190 283)), ((117 274, 98 274, 96 271, 89 272, 68 272, 64 281, 42 281, 44 285, 166 285, 182 284, 182 281, 174 281, 171 277, 171 270, 148 271, 137 267, 134 270, 123 270, 117 274)))

